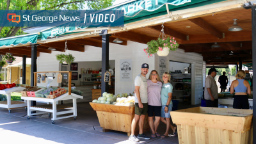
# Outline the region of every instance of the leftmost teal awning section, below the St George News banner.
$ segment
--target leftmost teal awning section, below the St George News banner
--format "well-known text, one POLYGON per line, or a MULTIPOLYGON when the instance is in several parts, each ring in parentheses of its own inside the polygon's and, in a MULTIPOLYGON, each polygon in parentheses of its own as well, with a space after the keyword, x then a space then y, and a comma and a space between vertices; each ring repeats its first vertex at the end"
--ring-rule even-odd
POLYGON ((8 47, 8 46, 16 46, 23 44, 36 44, 37 41, 37 33, 28 34, 28 35, 19 35, 12 36, 8 38, 0 39, 0 47, 8 47))

